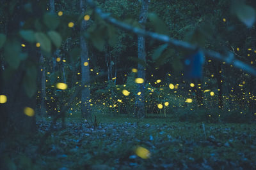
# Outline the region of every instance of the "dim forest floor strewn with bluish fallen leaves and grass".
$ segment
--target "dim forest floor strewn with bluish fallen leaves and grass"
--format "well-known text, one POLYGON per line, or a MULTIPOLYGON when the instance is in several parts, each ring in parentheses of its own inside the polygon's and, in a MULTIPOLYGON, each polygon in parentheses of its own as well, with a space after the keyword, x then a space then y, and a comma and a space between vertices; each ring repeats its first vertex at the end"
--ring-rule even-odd
MULTIPOLYGON (((99 124, 93 127, 68 117, 67 128, 52 132, 38 154, 35 148, 50 120, 37 120, 38 133, 30 141, 13 139, 12 145, 16 146, 9 155, 12 159, 6 159, 9 167, 256 169, 255 124, 203 125, 172 122, 168 118, 138 120, 106 115, 98 117, 99 124), (136 152, 138 147, 142 148, 141 153, 136 152)), ((56 127, 61 127, 61 122, 56 127)))

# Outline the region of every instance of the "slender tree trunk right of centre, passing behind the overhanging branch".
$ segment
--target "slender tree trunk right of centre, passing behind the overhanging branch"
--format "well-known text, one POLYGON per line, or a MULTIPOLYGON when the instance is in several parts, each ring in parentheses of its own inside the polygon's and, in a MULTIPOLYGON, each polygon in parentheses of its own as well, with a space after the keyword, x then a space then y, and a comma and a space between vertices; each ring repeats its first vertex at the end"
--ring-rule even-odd
MULTIPOLYGON (((148 12, 148 0, 141 1, 141 11, 139 23, 144 27, 144 24, 147 20, 148 12)), ((146 62, 146 49, 145 49, 145 38, 143 36, 138 36, 138 58, 146 62)), ((143 78, 145 81, 145 67, 141 64, 138 64, 138 78, 143 78)), ((145 99, 144 99, 144 83, 138 84, 138 92, 141 94, 136 96, 136 115, 138 118, 144 117, 145 115, 145 99)))

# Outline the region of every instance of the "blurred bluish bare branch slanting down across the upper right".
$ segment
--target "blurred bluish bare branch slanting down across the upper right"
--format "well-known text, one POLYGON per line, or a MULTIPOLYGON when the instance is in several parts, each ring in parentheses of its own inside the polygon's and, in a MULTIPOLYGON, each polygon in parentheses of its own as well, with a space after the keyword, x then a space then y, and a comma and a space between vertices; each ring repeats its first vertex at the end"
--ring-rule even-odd
MULTIPOLYGON (((163 43, 168 43, 169 45, 175 46, 176 48, 183 49, 183 50, 195 51, 196 48, 198 48, 197 46, 191 45, 190 43, 187 43, 185 41, 179 41, 177 39, 170 38, 169 36, 166 36, 163 34, 157 34, 156 32, 145 31, 144 29, 133 27, 132 25, 125 24, 124 22, 120 22, 115 18, 111 17, 109 13, 104 13, 100 8, 97 8, 97 6, 95 5, 95 3, 93 3, 92 0, 86 0, 86 2, 89 4, 89 6, 91 6, 91 8, 93 8, 93 10, 95 10, 95 12, 97 13, 97 15, 100 16, 100 18, 102 18, 109 24, 113 24, 116 27, 119 27, 120 29, 124 29, 134 34, 155 39, 163 43)), ((234 53, 230 52, 228 53, 228 56, 226 56, 226 55, 221 55, 221 53, 218 53, 212 50, 202 49, 202 51, 204 52, 205 57, 210 57, 212 59, 226 62, 227 64, 232 64, 234 67, 237 67, 238 69, 242 69, 243 71, 250 73, 253 76, 256 76, 255 67, 249 66, 248 64, 245 64, 241 60, 235 59, 234 53)))

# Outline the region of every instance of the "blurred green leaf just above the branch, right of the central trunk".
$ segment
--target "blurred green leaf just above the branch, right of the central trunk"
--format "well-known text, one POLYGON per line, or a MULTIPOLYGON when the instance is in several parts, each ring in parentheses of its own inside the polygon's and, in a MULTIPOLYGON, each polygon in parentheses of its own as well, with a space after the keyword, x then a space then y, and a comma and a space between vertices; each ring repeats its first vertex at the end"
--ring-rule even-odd
POLYGON ((168 34, 168 27, 166 27, 163 20, 156 13, 148 13, 148 20, 150 20, 152 27, 154 27, 154 31, 159 34, 168 34))

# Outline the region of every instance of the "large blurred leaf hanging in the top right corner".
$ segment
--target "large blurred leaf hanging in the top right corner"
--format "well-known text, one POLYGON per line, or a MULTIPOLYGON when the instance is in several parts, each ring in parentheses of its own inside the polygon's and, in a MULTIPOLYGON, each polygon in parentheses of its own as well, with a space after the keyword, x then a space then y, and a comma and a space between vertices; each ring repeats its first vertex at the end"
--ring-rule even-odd
POLYGON ((255 10, 252 6, 244 4, 242 1, 236 1, 232 6, 232 12, 241 20, 247 27, 252 27, 255 22, 255 10))

